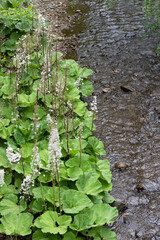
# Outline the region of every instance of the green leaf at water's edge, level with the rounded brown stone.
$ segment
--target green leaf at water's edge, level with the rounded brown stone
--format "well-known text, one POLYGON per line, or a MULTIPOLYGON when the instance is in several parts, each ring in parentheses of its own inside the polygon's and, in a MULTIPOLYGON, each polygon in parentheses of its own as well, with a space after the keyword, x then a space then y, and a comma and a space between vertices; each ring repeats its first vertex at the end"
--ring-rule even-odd
POLYGON ((106 180, 108 183, 111 183, 112 173, 110 171, 110 164, 109 161, 106 160, 99 160, 97 162, 98 169, 101 173, 101 177, 106 180))

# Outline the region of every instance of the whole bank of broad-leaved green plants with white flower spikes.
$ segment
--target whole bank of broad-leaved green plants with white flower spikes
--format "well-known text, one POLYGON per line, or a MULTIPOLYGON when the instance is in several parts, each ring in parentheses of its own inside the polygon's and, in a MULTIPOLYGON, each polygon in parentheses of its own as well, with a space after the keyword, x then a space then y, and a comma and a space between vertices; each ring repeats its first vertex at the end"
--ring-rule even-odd
POLYGON ((116 239, 118 212, 88 76, 63 60, 27 2, 0 4, 0 232, 33 240, 116 239))

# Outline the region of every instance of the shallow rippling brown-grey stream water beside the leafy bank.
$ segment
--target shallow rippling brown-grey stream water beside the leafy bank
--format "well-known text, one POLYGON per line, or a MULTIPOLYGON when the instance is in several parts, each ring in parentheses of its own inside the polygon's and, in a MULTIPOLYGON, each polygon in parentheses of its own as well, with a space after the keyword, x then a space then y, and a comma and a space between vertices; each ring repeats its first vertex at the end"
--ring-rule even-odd
POLYGON ((142 2, 72 1, 75 21, 64 30, 78 38, 66 57, 94 71, 95 134, 111 164, 119 240, 160 239, 160 58, 156 36, 144 36, 142 2))

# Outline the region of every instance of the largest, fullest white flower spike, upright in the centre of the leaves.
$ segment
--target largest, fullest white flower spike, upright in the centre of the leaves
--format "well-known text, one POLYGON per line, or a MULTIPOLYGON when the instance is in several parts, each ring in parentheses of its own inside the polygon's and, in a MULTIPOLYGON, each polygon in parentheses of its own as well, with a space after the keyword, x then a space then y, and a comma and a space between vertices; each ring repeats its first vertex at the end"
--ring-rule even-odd
POLYGON ((53 123, 53 127, 51 129, 48 150, 49 150, 48 168, 53 167, 54 170, 59 169, 60 165, 59 159, 62 157, 62 153, 56 122, 53 123))

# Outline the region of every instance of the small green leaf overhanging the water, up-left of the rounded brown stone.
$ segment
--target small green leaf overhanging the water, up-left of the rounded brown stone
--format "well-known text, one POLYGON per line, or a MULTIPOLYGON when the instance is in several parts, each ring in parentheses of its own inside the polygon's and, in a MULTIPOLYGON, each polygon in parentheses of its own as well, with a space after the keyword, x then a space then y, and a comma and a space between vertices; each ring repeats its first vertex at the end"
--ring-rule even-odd
POLYGON ((106 155, 103 143, 99 141, 96 137, 89 137, 88 143, 91 145, 96 154, 106 155))

